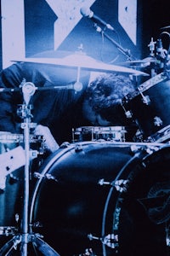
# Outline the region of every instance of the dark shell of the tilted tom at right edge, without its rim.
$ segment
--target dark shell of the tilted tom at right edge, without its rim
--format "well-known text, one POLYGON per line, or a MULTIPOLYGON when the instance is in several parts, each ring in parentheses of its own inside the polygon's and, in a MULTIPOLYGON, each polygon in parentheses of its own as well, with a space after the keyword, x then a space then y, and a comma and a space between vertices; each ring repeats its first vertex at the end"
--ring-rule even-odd
POLYGON ((129 96, 124 108, 132 113, 144 140, 153 137, 156 141, 156 134, 170 125, 170 80, 154 84, 149 89, 145 83, 146 88, 143 88, 142 94, 137 89, 137 96, 129 96), (149 98, 148 104, 144 103, 144 97, 149 98))

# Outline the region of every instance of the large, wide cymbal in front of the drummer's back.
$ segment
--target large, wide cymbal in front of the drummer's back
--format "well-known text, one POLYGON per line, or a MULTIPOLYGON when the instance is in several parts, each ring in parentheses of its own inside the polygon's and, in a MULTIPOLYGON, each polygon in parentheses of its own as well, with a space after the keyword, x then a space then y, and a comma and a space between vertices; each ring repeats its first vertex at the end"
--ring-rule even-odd
POLYGON ((134 70, 133 68, 120 67, 96 61, 94 58, 83 54, 67 55, 64 58, 24 58, 13 62, 29 62, 39 64, 57 65, 60 67, 81 67, 91 71, 133 73, 136 75, 148 76, 149 74, 134 70))

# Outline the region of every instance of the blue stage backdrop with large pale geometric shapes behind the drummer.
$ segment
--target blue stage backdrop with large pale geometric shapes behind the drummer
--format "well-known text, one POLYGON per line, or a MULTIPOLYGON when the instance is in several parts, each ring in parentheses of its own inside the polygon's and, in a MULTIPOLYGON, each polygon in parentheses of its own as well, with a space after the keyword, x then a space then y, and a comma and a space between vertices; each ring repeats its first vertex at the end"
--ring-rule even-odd
POLYGON ((167 0, 1 0, 0 65, 56 49, 82 50, 114 64, 126 61, 129 52, 144 58, 151 38, 168 21, 167 0), (81 15, 81 9, 114 30, 81 15))

